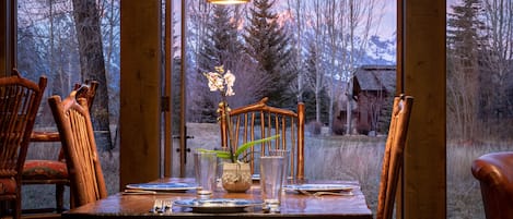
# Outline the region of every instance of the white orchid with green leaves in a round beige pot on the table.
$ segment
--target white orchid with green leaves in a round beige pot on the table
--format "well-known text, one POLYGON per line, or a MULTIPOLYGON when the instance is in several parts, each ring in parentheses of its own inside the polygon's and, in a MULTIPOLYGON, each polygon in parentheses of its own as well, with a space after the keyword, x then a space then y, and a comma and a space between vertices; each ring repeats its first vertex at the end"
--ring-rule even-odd
POLYGON ((233 84, 235 83, 235 75, 233 75, 230 70, 225 72, 222 65, 215 66, 214 70, 214 72, 203 73, 203 75, 208 78, 208 86, 210 88, 210 92, 220 92, 221 94, 222 100, 219 104, 219 107, 222 109, 218 111, 221 113, 218 120, 226 121, 230 139, 228 144, 228 150, 202 150, 215 151, 219 158, 222 158, 223 160, 229 160, 222 163, 223 173, 221 177, 221 181, 224 190, 226 190, 228 192, 245 192, 250 187, 253 183, 252 172, 249 163, 243 162, 240 156, 249 147, 256 144, 275 139, 279 137, 279 135, 247 142, 237 147, 235 150, 232 123, 230 121, 230 107, 228 106, 226 101, 228 96, 235 95, 232 88, 233 84))

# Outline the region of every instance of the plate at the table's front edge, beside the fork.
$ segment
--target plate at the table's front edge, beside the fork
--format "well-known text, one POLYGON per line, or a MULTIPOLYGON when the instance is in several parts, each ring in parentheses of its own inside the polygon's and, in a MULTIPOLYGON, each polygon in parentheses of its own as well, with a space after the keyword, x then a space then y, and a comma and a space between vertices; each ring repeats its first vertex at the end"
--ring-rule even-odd
POLYGON ((175 206, 193 208, 196 212, 242 212, 249 206, 261 205, 248 199, 210 198, 210 199, 178 199, 175 206))

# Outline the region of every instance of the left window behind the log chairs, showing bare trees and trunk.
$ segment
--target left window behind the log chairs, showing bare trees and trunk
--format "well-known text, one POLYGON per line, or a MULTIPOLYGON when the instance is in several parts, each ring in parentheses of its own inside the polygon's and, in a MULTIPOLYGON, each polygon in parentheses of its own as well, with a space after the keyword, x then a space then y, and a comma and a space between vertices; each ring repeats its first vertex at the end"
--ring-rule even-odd
MULTIPOLYGON (((118 162, 110 159, 110 156, 118 157, 115 145, 119 114, 119 0, 92 1, 92 11, 84 8, 91 1, 78 2, 73 5, 71 0, 18 1, 18 69, 32 80, 39 75, 48 78, 34 127, 38 131, 56 130, 46 101, 49 96, 65 97, 75 83, 98 81, 91 112, 96 143, 104 151, 107 187, 114 193, 118 191, 119 177, 118 162), (74 14, 79 10, 89 14, 74 14), (85 53, 88 58, 81 60, 85 53)), ((57 159, 59 149, 60 143, 34 143, 27 159, 57 159)), ((27 198, 34 194, 54 197, 54 190, 50 185, 24 186, 23 208, 54 207, 54 203, 44 198, 27 198)))

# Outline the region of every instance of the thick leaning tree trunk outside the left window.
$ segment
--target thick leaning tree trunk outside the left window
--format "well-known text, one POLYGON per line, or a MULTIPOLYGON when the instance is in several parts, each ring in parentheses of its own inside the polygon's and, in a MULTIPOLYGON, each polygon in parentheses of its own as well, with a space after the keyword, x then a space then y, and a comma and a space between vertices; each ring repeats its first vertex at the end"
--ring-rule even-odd
POLYGON ((100 83, 91 111, 96 144, 102 149, 112 149, 108 94, 105 62, 100 28, 100 12, 96 0, 73 0, 73 15, 79 40, 80 70, 82 81, 100 83))

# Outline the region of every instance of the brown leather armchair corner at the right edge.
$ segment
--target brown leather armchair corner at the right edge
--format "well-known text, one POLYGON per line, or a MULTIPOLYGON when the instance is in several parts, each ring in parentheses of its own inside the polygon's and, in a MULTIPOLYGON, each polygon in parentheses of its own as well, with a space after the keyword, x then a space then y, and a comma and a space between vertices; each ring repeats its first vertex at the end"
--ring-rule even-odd
POLYGON ((474 160, 487 219, 513 219, 513 151, 491 153, 474 160))

